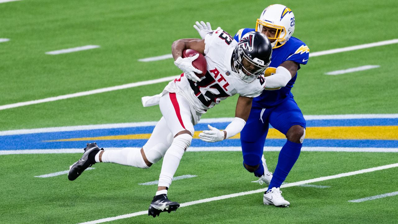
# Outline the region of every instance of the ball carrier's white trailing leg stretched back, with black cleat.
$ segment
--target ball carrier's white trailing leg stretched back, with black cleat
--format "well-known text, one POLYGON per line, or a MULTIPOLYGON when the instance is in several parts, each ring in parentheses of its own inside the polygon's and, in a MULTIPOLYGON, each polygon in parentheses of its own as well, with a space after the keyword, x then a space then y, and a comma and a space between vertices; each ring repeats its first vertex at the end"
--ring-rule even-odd
POLYGON ((117 163, 147 169, 152 163, 156 163, 164 156, 171 145, 172 139, 173 136, 168 130, 166 120, 162 118, 156 124, 151 137, 141 149, 127 147, 120 150, 103 150, 99 149, 96 143, 87 144, 83 157, 70 166, 68 179, 71 181, 75 180, 85 169, 99 162, 117 163))

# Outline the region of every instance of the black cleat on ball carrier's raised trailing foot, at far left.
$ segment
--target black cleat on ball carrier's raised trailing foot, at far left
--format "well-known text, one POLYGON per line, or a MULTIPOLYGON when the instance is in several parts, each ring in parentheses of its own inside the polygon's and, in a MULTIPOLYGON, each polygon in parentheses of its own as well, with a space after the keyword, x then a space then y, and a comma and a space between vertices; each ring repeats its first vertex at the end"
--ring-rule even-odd
POLYGON ((70 181, 76 180, 76 178, 78 178, 85 169, 96 163, 88 158, 88 154, 97 150, 99 151, 103 149, 98 148, 97 143, 87 143, 87 147, 84 148, 84 154, 82 158, 69 167, 68 179, 70 181))

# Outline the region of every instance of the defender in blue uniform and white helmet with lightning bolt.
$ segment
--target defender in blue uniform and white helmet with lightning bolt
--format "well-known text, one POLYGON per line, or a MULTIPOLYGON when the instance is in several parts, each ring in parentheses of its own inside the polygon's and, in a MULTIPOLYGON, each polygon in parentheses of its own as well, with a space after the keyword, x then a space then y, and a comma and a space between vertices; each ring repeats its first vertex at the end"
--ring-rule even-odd
MULTIPOLYGON (((203 21, 196 22, 194 28, 202 38, 211 31, 210 23, 205 24, 203 21)), ((255 182, 269 185, 263 196, 264 204, 287 207, 290 203, 283 198, 279 187, 300 155, 306 127, 306 121, 293 98, 291 88, 297 79, 300 65, 307 63, 310 50, 300 39, 292 37, 295 16, 289 8, 281 4, 265 8, 257 19, 256 28, 240 29, 234 39, 238 41, 254 30, 268 37, 273 52, 271 64, 264 73, 265 91, 254 98, 250 116, 240 134, 243 165, 259 177, 255 182), (287 138, 279 153, 273 175, 268 171, 263 155, 269 124, 287 138)))

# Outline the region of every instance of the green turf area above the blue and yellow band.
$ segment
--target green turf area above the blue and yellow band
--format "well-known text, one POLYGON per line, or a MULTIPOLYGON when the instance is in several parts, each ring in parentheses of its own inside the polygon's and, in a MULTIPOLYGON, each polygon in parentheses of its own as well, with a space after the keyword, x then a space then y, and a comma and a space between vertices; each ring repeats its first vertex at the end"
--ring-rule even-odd
MULTIPOLYGON (((311 52, 394 39, 398 33, 398 28, 391 26, 394 8, 390 6, 394 1, 282 3, 295 13, 294 36, 307 43, 311 52), (371 32, 369 24, 378 24, 377 30, 383 30, 383 35, 371 32)), ((242 11, 244 4, 54 4, 27 0, 0 4, 0 11, 4 12, 0 14, 2 37, 11 39, 0 43, 0 105, 178 75, 180 71, 172 59, 150 63, 137 60, 170 53, 176 39, 199 37, 192 28, 196 20, 209 21, 213 28, 221 26, 231 34, 240 28, 254 27, 264 2, 251 2, 258 10, 242 11), (189 12, 189 16, 181 12, 189 12), (231 20, 231 15, 239 15, 239 19, 231 20), (101 48, 44 54, 88 44, 101 48)), ((390 96, 396 93, 391 83, 398 82, 398 77, 391 75, 398 69, 397 49, 395 44, 310 58, 308 65, 299 70, 293 88, 298 105, 304 114, 395 113, 398 102, 390 96), (380 68, 324 75, 362 65, 380 68)), ((2 110, 0 130, 158 120, 158 107, 142 108, 140 98, 157 94, 165 85, 166 82, 2 110), (92 108, 96 108, 95 114, 86 112, 92 108)), ((203 117, 232 117, 235 103, 236 98, 228 99, 203 117)))

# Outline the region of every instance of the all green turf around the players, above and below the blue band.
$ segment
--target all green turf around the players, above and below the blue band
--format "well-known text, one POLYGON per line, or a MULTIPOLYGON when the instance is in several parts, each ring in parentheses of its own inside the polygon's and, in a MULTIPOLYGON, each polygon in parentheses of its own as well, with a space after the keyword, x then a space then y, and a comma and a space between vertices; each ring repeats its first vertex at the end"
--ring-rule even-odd
MULTIPOLYGON (((1 1, 0 1, 1 2, 1 1)), ((138 59, 171 53, 173 41, 199 38, 195 21, 211 22, 231 35, 254 28, 264 1, 50 1, 0 3, 0 106, 179 75, 172 59, 138 59), (61 55, 45 52, 84 45, 100 48, 61 55)), ((310 53, 398 38, 395 0, 293 1, 293 36, 310 53)), ((311 57, 293 88, 305 115, 398 113, 398 44, 311 57), (343 75, 326 72, 364 65, 379 68, 343 75)), ((167 82, 0 110, 0 131, 156 121, 159 108, 140 98, 167 82)), ((236 97, 202 118, 233 117, 236 97)), ((1 137, 1 136, 0 136, 1 137)), ((398 140, 398 139, 394 139, 398 140)), ((14 143, 18 147, 18 141, 14 143)), ((388 146, 391 147, 391 146, 388 146)), ((396 146, 395 146, 396 147, 396 146)), ((0 149, 2 150, 2 149, 0 149)), ((0 155, 0 223, 77 224, 144 211, 161 163, 148 170, 96 164, 82 178, 37 178, 68 169, 81 154, 0 155)), ((266 152, 269 169, 277 152, 266 152)), ((286 182, 295 183, 398 163, 397 153, 302 152, 286 182)), ((109 223, 397 223, 398 196, 352 203, 398 191, 398 168, 313 183, 328 188, 288 187, 289 208, 264 206, 262 193, 182 207, 152 218, 140 215, 109 223)), ((240 152, 187 152, 176 173, 197 175, 173 182, 180 203, 261 189, 242 168, 240 152)))

